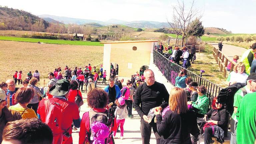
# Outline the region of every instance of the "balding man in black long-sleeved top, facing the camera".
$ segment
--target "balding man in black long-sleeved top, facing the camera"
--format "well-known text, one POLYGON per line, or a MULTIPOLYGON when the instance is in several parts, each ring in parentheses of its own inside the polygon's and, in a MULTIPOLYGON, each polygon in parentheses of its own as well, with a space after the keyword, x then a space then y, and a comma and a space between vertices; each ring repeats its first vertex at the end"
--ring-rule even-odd
POLYGON ((140 130, 142 144, 149 144, 152 128, 156 136, 157 144, 159 144, 161 136, 157 133, 156 123, 152 122, 149 124, 147 115, 151 108, 160 111, 165 108, 169 102, 169 93, 163 84, 155 82, 155 76, 152 70, 145 70, 144 76, 146 78, 146 83, 137 88, 133 104, 141 117, 140 130))

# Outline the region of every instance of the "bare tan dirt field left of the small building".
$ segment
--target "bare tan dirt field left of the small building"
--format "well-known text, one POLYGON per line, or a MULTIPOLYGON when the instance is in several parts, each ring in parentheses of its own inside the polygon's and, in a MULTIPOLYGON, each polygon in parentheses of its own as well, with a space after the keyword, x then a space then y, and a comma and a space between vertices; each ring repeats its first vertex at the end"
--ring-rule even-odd
MULTIPOLYGON (((22 70, 22 79, 27 73, 38 70, 40 83, 49 72, 66 65, 72 70, 75 66, 96 66, 103 61, 103 46, 74 46, 57 44, 37 44, 28 42, 0 41, 0 82, 12 79, 17 70, 22 70), (41 80, 42 79, 42 80, 41 80)), ((48 80, 46 80, 48 82, 48 80)))

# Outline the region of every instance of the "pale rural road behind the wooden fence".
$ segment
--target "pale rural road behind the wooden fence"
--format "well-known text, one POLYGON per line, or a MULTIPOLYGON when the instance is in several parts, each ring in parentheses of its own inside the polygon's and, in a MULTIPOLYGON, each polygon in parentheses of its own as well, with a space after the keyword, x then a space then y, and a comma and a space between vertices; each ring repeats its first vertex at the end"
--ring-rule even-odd
MULTIPOLYGON (((218 43, 208 43, 208 44, 211 44, 215 48, 219 49, 218 43)), ((231 59, 233 58, 234 55, 239 55, 241 57, 244 51, 246 51, 245 48, 228 45, 228 44, 223 44, 223 47, 222 47, 222 52, 231 59)))

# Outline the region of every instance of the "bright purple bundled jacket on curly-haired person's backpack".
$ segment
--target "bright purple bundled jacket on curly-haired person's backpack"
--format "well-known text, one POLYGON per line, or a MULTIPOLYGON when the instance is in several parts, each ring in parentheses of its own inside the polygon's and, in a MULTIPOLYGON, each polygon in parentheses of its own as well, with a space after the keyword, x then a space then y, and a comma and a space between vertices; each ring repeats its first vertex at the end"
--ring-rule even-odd
POLYGON ((93 122, 91 124, 91 130, 93 132, 92 144, 105 144, 105 139, 109 135, 109 128, 100 122, 93 122))

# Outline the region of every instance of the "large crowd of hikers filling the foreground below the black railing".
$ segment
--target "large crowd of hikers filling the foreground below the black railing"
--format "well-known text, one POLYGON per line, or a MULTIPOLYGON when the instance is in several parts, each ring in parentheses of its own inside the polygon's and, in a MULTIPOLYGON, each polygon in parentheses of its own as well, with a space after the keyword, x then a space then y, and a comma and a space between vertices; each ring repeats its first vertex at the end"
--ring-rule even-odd
MULTIPOLYGON (((256 44, 251 49, 256 49, 256 44)), ((22 71, 15 74, 17 77, 0 84, 0 141, 3 143, 72 144, 72 129, 80 127, 79 144, 113 144, 119 137, 119 128, 119 138, 125 138, 125 119, 134 117, 133 108, 141 117, 143 144, 149 144, 152 129, 157 144, 196 144, 201 135, 205 144, 212 143, 212 137, 223 143, 228 114, 232 115, 232 144, 253 144, 256 139, 256 73, 247 73, 244 60, 235 65, 227 79, 228 86, 243 85, 234 94, 232 113, 227 112, 225 103, 217 97, 209 103, 206 87, 194 82, 186 69, 180 70, 170 94, 163 84, 155 81, 154 72, 145 67, 124 82, 118 76, 118 68, 112 65, 104 89, 97 88, 99 78, 103 78, 103 84, 108 76, 102 65, 99 71, 90 64, 75 67, 73 71, 66 66, 64 77, 59 67, 48 73, 49 82, 44 88, 37 87, 38 71, 33 75, 30 71, 20 88, 16 86, 22 71), (80 118, 84 83, 91 110, 80 118)))

